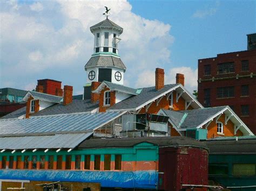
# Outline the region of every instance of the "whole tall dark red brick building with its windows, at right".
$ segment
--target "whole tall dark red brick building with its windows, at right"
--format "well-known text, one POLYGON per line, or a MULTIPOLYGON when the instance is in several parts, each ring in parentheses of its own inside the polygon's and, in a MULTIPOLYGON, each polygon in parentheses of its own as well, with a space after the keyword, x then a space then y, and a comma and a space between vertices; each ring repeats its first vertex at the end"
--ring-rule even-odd
POLYGON ((256 133, 256 33, 248 50, 198 60, 198 100, 204 107, 229 105, 256 133))

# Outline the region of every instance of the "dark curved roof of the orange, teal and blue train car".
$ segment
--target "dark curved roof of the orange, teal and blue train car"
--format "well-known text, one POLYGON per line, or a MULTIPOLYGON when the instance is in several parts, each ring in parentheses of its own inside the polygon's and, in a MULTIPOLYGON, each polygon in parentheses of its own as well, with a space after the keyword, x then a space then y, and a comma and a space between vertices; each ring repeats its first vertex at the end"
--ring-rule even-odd
POLYGON ((78 148, 113 148, 113 147, 133 147, 139 143, 152 143, 158 146, 191 146, 207 148, 203 142, 189 137, 134 137, 134 138, 105 138, 89 139, 81 143, 78 148))

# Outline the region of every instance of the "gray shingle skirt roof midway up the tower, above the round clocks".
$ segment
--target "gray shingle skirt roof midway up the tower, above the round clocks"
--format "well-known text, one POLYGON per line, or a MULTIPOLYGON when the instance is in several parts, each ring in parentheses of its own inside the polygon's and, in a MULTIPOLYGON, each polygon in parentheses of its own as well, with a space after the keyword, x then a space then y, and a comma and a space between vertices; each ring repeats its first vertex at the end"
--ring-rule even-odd
POLYGON ((122 60, 114 56, 93 56, 86 63, 85 68, 92 66, 116 66, 118 68, 126 69, 122 60))

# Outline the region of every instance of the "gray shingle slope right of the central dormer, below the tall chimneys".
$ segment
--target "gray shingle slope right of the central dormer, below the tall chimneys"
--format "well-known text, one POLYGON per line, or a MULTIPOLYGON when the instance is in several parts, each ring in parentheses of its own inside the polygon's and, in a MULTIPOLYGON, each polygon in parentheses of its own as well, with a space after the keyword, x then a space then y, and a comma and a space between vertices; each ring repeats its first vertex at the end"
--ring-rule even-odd
POLYGON ((165 93, 167 90, 176 87, 178 84, 168 84, 165 85, 163 89, 156 90, 156 87, 143 88, 141 93, 137 96, 132 96, 114 104, 109 110, 119 110, 119 109, 134 109, 140 105, 146 103, 147 101, 152 100, 154 97, 165 93))

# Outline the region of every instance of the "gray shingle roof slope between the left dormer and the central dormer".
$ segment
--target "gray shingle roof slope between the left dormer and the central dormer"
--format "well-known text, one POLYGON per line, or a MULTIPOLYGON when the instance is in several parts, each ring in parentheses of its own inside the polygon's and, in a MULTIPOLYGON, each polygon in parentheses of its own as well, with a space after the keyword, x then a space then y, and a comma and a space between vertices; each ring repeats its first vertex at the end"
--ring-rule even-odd
POLYGON ((91 103, 91 100, 73 100, 72 103, 68 105, 63 105, 59 103, 52 105, 49 108, 45 108, 38 111, 31 116, 46 116, 46 115, 56 115, 56 114, 72 114, 77 112, 90 112, 99 107, 99 103, 91 103))

